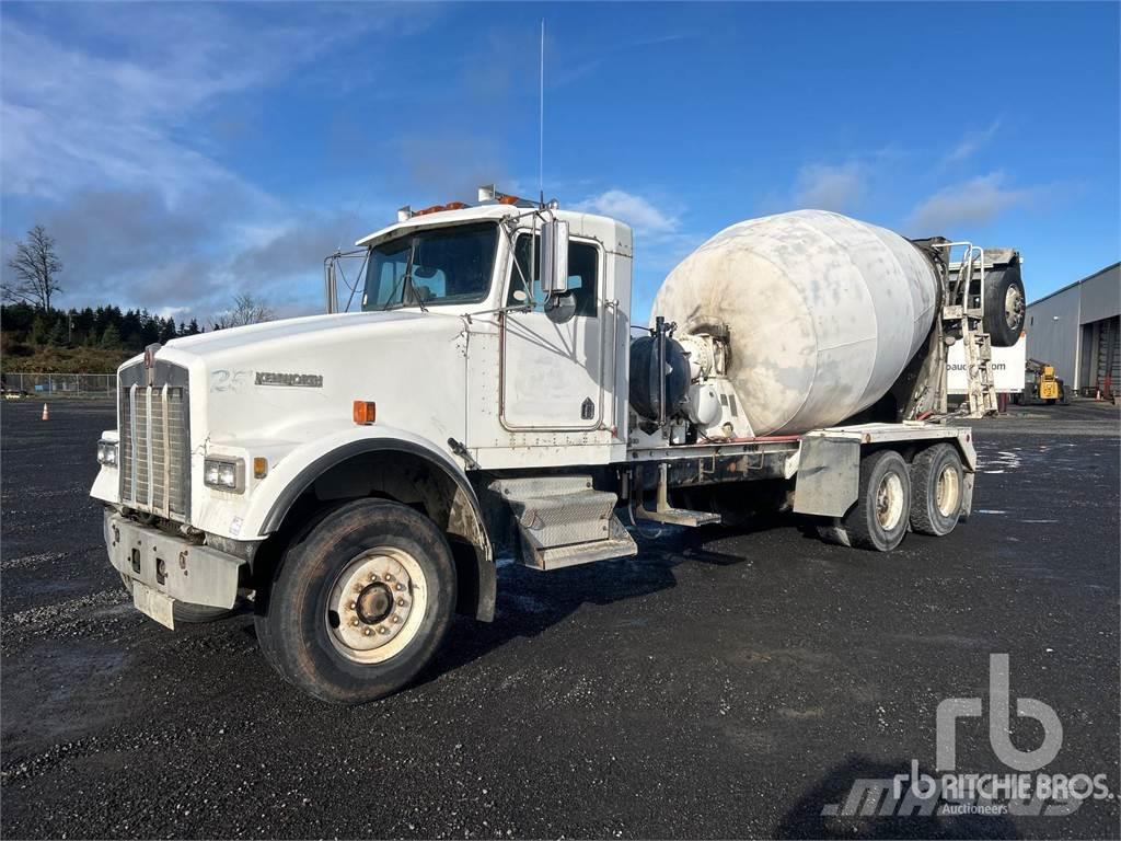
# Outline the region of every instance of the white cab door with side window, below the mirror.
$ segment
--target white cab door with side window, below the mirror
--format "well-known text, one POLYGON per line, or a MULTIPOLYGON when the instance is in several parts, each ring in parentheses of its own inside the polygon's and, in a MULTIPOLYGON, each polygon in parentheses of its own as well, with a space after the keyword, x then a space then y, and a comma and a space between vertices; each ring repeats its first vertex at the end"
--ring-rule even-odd
MULTIPOLYGON (((501 336, 500 418, 511 431, 590 431, 603 419, 603 250, 597 242, 568 241, 568 290, 575 315, 556 323, 544 311, 538 280, 529 271, 531 239, 515 241, 507 284, 507 306, 531 299, 529 312, 503 314, 501 336)), ((539 248, 532 248, 535 256, 539 248)), ((536 260, 535 260, 536 262, 536 260)))

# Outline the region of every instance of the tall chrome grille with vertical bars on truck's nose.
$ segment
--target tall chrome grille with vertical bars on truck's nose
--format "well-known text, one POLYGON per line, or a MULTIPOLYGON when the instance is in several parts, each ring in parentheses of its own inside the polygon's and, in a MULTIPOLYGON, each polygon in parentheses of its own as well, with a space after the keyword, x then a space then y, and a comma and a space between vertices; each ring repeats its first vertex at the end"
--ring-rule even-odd
MULTIPOLYGON (((169 519, 186 520, 191 505, 189 434, 186 385, 158 382, 168 366, 158 366, 154 385, 143 369, 121 375, 121 502, 169 519), (141 381, 137 381, 137 380, 141 381)), ((174 369, 186 382, 186 372, 174 369)))

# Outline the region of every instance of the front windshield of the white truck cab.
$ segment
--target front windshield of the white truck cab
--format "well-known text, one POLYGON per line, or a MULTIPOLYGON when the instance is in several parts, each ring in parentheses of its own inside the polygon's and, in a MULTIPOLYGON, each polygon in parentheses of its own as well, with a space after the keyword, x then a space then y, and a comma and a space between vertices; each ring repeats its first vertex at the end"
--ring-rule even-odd
POLYGON ((490 292, 498 224, 416 231, 370 252, 362 309, 476 304, 490 292))

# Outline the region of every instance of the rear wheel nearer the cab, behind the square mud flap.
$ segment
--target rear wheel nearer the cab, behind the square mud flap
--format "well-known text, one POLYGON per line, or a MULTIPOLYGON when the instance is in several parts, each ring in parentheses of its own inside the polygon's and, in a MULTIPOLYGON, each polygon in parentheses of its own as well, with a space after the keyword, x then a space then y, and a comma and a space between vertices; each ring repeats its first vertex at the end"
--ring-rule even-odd
POLYGON ((895 450, 880 450, 860 462, 856 502, 826 537, 845 546, 890 552, 907 535, 910 510, 910 473, 895 450))

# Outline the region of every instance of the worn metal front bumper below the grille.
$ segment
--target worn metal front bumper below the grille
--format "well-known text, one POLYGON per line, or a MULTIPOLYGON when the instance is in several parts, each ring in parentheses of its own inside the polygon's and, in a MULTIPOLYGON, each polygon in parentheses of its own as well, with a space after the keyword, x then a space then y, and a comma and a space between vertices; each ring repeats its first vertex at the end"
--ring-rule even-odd
POLYGON ((240 557, 141 526, 105 509, 105 548, 121 575, 176 601, 232 608, 240 557))

